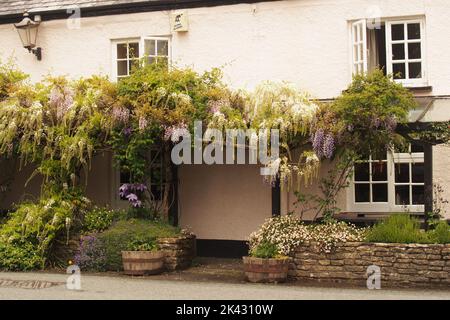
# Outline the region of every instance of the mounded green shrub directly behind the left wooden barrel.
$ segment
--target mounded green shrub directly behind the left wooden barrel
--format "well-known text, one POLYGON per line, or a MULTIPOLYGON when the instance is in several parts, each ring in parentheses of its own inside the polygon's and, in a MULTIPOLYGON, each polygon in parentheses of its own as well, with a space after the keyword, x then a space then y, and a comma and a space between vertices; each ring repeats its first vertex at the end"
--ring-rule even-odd
POLYGON ((162 222, 130 219, 118 221, 113 226, 97 235, 103 243, 106 253, 106 268, 111 271, 122 270, 122 251, 136 240, 154 241, 154 239, 175 237, 179 229, 162 222))

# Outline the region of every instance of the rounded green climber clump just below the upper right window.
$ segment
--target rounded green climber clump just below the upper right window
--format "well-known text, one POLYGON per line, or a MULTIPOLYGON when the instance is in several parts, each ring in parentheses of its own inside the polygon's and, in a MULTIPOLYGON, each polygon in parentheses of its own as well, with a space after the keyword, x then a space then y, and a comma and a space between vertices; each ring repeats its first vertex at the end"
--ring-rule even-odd
POLYGON ((355 76, 333 109, 338 125, 349 133, 343 133, 343 145, 349 143, 360 155, 377 156, 386 152, 386 146, 404 143, 395 129, 408 122, 409 111, 415 107, 417 103, 408 89, 376 70, 355 76))

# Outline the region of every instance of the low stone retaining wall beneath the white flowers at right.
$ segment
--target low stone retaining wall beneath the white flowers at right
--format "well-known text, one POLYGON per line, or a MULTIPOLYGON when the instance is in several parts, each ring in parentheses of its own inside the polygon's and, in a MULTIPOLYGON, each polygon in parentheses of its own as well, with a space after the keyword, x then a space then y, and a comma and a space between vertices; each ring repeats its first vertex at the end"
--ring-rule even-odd
POLYGON ((450 244, 347 242, 325 253, 308 242, 296 249, 289 276, 365 286, 371 265, 380 267, 382 286, 450 288, 450 244))

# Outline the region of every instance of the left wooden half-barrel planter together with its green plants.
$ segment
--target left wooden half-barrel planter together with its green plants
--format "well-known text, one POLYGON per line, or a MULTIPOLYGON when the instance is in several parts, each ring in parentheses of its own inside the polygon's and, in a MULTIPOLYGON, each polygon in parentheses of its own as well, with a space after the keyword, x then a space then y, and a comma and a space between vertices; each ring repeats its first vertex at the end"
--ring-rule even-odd
POLYGON ((124 273, 127 275, 158 274, 163 271, 164 253, 154 239, 135 239, 122 251, 124 273))

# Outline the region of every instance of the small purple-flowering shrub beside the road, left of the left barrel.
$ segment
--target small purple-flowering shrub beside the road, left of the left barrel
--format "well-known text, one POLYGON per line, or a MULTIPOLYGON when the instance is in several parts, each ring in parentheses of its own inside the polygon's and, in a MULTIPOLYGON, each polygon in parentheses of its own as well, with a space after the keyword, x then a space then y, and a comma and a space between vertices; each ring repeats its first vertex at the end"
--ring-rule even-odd
POLYGON ((83 270, 104 271, 106 269, 106 252, 95 235, 82 236, 75 264, 83 270))

